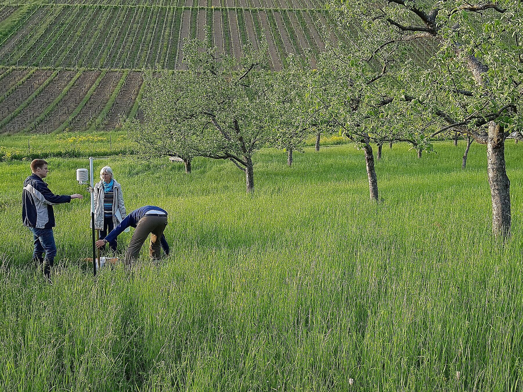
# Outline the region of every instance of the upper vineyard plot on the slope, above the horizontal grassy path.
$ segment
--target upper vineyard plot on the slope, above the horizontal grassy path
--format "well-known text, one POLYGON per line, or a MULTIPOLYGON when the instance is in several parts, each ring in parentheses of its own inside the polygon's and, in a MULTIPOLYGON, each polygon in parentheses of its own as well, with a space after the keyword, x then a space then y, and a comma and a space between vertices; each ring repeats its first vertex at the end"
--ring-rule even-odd
MULTIPOLYGON (((304 55, 303 48, 310 48, 314 62, 325 47, 323 27, 332 26, 326 10, 308 9, 312 0, 252 1, 255 8, 244 8, 250 0, 241 0, 241 7, 233 0, 185 0, 180 7, 34 7, 0 41, 0 66, 179 69, 184 40, 206 40, 207 30, 208 44, 220 54, 239 57, 245 44, 258 48, 266 39, 275 70, 285 66, 287 53, 304 55), (302 8, 292 9, 297 6, 302 8)), ((335 40, 335 29, 330 31, 335 40)))

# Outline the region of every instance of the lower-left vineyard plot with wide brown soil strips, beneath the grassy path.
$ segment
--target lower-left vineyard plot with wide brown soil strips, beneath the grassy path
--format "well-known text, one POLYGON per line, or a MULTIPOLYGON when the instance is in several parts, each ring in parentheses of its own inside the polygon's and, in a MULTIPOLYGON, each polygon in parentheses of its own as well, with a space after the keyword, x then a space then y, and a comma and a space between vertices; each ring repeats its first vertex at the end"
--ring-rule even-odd
POLYGON ((137 71, 4 68, 0 71, 0 133, 111 130, 135 106, 137 71))

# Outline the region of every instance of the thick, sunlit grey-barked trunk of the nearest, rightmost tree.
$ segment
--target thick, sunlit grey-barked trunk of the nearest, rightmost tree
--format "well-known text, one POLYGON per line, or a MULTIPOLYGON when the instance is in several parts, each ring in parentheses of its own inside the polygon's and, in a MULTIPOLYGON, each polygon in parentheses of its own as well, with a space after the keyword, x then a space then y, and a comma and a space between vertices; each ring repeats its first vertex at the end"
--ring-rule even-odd
POLYGON ((487 171, 492 195, 492 231, 496 237, 510 235, 510 181, 505 167, 505 130, 488 123, 487 171))

